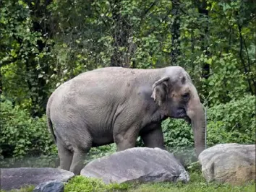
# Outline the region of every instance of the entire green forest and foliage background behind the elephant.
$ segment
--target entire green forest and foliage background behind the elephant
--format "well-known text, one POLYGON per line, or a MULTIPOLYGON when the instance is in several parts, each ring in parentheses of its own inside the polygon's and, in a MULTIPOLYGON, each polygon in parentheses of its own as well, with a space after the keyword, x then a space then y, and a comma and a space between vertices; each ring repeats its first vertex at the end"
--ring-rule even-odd
MULTIPOLYGON (((105 66, 184 67, 207 110, 208 146, 255 143, 255 10, 253 0, 1 0, 0 158, 56 154, 49 95, 105 66)), ((163 132, 174 152, 193 147, 184 121, 167 119, 163 132)))

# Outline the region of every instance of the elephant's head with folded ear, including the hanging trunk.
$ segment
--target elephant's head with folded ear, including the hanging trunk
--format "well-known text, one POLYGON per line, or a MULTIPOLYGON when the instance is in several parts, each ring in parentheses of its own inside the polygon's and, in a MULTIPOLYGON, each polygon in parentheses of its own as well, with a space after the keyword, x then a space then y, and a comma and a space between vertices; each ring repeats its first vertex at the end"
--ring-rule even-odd
POLYGON ((198 157, 205 149, 205 113, 189 74, 182 67, 170 66, 152 89, 151 97, 164 115, 184 118, 192 124, 198 157))

